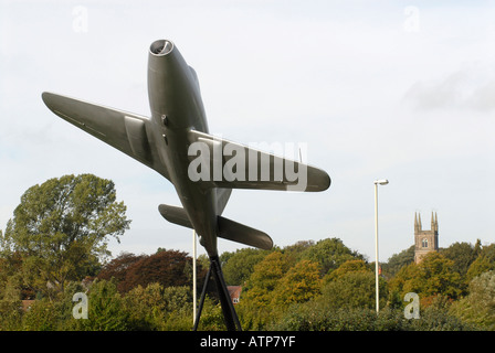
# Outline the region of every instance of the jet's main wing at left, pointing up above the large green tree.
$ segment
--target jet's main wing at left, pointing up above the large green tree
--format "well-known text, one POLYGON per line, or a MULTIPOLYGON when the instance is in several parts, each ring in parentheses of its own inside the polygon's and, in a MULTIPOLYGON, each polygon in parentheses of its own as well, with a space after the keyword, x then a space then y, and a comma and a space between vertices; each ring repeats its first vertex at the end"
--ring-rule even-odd
POLYGON ((155 143, 150 141, 147 117, 44 92, 44 104, 62 119, 133 157, 168 179, 155 143))

